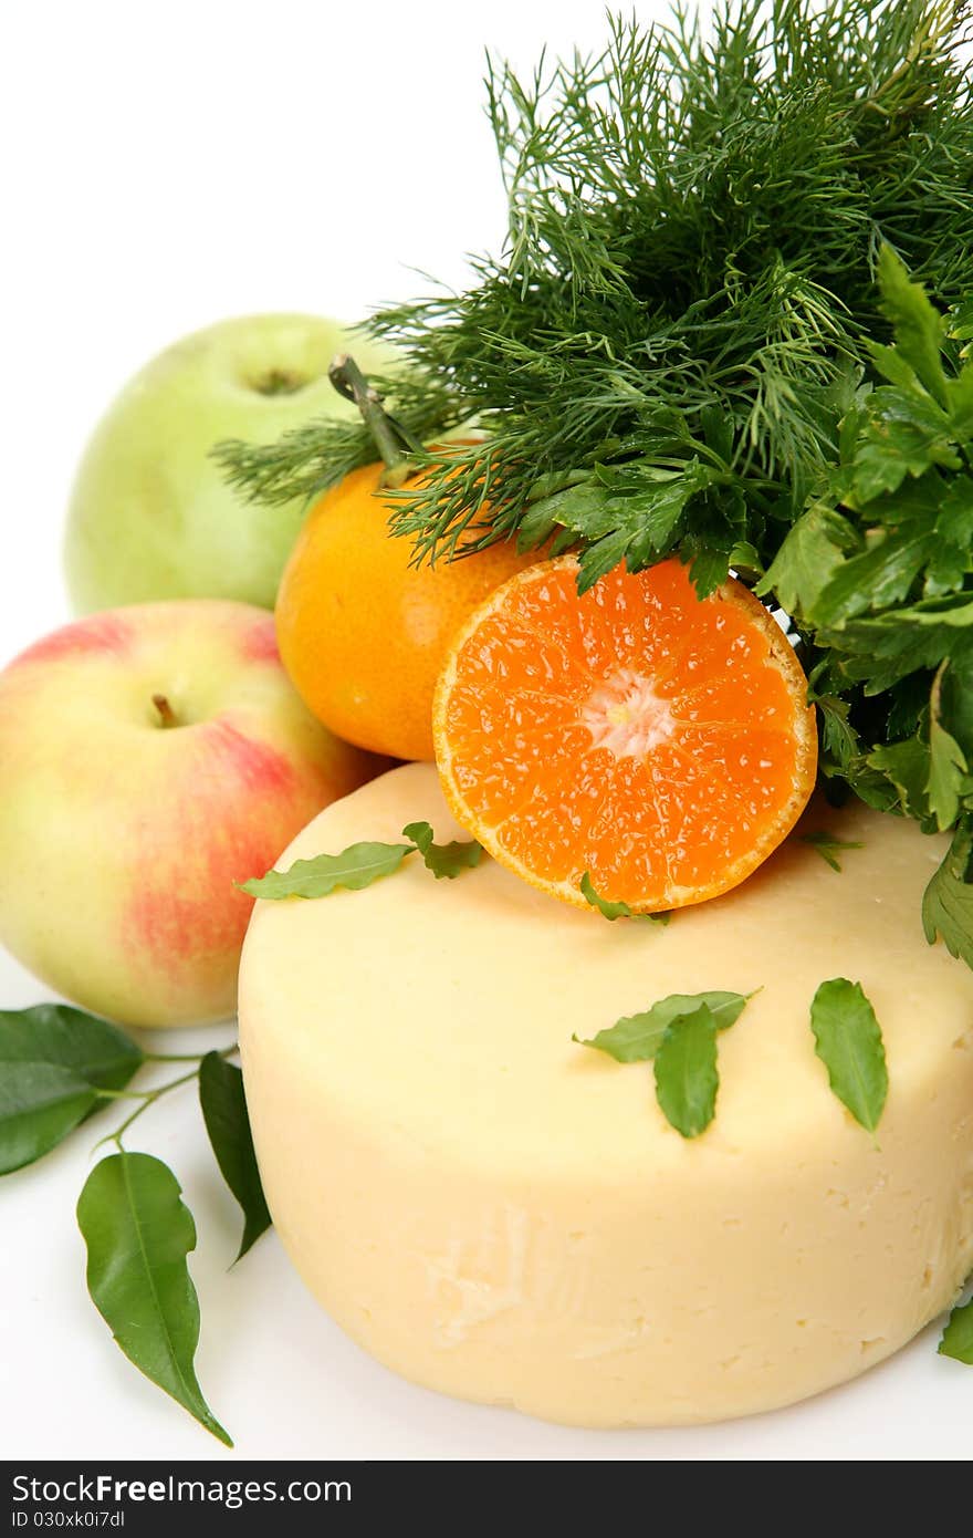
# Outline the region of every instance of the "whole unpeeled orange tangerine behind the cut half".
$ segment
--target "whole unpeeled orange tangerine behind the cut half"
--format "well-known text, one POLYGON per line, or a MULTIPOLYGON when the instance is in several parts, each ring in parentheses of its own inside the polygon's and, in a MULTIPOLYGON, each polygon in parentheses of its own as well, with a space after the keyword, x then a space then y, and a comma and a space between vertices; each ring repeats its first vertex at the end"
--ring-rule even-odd
MULTIPOLYGON (((307 515, 277 598, 277 640, 309 709, 392 758, 432 758, 432 697, 464 620, 536 555, 512 543, 410 566, 394 538, 381 464, 354 471, 307 515)), ((401 506, 401 504, 398 504, 401 506)))

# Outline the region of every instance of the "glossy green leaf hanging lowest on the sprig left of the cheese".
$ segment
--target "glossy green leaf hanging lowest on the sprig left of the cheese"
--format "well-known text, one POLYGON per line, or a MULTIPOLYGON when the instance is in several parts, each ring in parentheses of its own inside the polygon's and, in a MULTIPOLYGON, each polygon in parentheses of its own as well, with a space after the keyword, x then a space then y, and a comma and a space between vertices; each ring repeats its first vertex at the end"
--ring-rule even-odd
POLYGON ((88 1177, 77 1218, 88 1290, 125 1355, 232 1447, 195 1377, 200 1306, 186 1264, 195 1223, 172 1170, 149 1154, 112 1154, 88 1177))

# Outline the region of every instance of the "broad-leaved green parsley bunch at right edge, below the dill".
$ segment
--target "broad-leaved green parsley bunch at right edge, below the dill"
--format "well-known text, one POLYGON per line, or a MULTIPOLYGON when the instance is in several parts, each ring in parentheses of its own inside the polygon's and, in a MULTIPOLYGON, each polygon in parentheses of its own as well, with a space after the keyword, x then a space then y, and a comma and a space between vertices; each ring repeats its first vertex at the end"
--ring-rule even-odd
POLYGON ((878 277, 885 383, 848 409, 827 492, 758 592, 807 638, 824 775, 953 832, 922 921, 973 964, 973 358, 888 246, 878 277))

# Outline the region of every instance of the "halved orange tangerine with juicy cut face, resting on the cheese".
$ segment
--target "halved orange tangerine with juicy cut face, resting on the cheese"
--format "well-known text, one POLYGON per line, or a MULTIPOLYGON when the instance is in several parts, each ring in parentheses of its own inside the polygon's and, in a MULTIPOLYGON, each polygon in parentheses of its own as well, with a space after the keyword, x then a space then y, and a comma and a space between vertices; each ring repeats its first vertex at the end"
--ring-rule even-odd
POLYGON ((583 597, 573 555, 512 577, 466 621, 435 697, 457 820, 498 860, 587 907, 635 912, 736 886, 815 784, 807 678, 738 581, 699 598, 681 561, 615 568, 583 597))

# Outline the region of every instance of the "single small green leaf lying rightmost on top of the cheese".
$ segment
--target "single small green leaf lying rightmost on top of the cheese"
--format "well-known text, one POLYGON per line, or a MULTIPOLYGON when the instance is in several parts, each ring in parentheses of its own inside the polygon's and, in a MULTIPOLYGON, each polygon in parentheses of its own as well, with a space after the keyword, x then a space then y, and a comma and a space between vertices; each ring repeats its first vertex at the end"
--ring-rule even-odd
POLYGON ((812 1030, 838 1100, 865 1130, 875 1132, 888 1072, 882 1032, 861 983, 844 977, 822 983, 812 1001, 812 1030))

